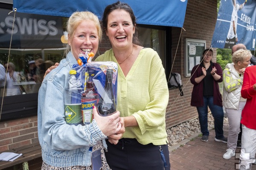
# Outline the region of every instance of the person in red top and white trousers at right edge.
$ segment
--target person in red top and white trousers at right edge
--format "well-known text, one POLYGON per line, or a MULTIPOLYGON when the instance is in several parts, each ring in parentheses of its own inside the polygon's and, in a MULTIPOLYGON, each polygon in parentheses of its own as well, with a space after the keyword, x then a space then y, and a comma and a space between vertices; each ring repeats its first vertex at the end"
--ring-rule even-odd
POLYGON ((241 115, 243 133, 240 170, 249 170, 251 164, 255 163, 256 153, 256 65, 244 71, 241 96, 247 100, 241 115))

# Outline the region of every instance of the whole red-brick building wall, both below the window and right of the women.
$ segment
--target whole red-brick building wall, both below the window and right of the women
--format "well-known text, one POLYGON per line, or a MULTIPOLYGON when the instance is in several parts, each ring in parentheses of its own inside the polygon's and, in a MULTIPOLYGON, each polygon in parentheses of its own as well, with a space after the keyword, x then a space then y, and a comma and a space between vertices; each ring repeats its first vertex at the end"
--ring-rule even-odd
MULTIPOLYGON (((184 77, 184 41, 186 38, 206 40, 207 47, 210 46, 217 19, 216 8, 216 0, 189 0, 183 25, 186 31, 182 31, 179 45, 181 28, 172 28, 172 47, 169 47, 172 48, 172 59, 174 59, 178 47, 173 71, 182 76, 184 96, 179 95, 178 89, 169 91, 166 128, 198 116, 196 108, 190 106, 193 87, 189 81, 190 77, 184 77)), ((99 45, 99 54, 104 53, 109 48, 111 48, 109 41, 103 39, 99 45)), ((214 49, 214 51, 216 58, 216 50, 214 49)), ((37 116, 0 122, 0 152, 37 141, 37 116)))

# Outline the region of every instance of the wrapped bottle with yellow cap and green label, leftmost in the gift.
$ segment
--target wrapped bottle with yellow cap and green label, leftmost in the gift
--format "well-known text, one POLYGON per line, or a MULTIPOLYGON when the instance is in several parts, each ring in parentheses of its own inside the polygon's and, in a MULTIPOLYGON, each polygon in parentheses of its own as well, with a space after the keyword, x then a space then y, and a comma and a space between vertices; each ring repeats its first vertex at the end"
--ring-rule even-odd
POLYGON ((64 100, 66 123, 69 125, 81 124, 81 84, 79 83, 79 80, 77 80, 76 70, 70 70, 70 77, 64 100))

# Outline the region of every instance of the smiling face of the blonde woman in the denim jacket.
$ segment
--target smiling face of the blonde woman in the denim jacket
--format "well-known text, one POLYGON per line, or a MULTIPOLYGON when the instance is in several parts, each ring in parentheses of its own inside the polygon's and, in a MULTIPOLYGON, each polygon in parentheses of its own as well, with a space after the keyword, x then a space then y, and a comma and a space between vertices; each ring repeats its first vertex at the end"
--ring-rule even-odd
POLYGON ((99 47, 99 35, 96 25, 91 20, 83 20, 77 26, 73 37, 68 37, 71 51, 76 58, 84 51, 96 54, 99 47))

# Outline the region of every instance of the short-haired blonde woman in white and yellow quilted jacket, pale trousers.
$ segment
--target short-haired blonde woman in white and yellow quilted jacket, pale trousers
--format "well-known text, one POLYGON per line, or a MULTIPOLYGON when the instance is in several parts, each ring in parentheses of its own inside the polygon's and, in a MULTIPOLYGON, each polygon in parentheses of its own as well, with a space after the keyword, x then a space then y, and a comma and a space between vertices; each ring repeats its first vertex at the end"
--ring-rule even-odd
POLYGON ((239 49, 233 53, 232 61, 223 70, 223 106, 229 122, 227 137, 227 152, 224 159, 235 156, 238 134, 240 130, 241 113, 246 99, 241 97, 241 88, 244 79, 245 68, 250 64, 251 52, 239 49))

